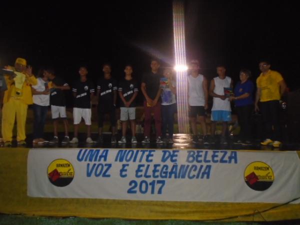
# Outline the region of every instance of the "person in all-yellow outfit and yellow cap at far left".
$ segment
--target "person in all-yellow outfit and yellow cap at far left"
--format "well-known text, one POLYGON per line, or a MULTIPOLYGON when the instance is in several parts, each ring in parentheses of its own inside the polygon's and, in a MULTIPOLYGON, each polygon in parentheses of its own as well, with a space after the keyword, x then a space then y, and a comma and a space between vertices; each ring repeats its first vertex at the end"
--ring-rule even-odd
POLYGON ((32 68, 26 67, 26 60, 17 58, 13 73, 5 75, 7 90, 4 92, 2 107, 2 137, 4 146, 11 146, 12 129, 16 118, 17 143, 25 145, 25 124, 28 104, 32 104, 31 85, 37 83, 32 68))

